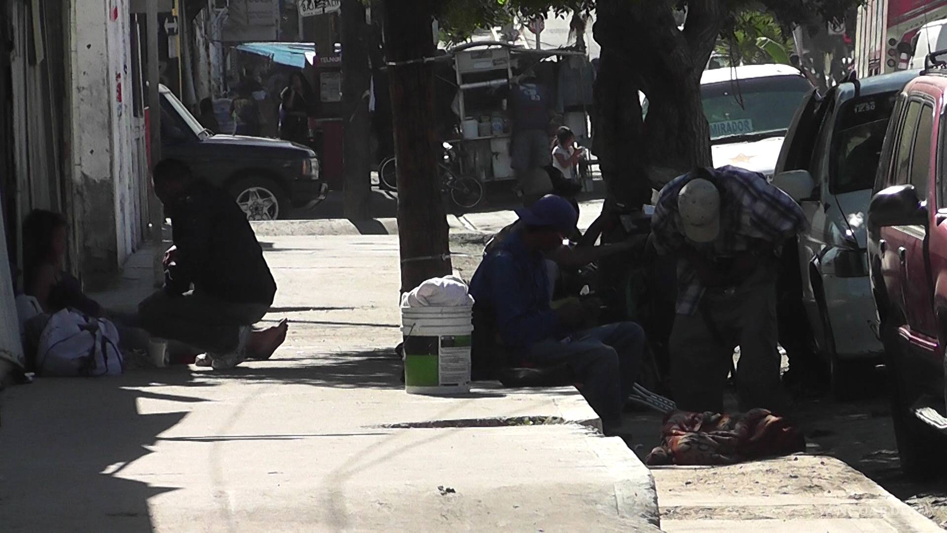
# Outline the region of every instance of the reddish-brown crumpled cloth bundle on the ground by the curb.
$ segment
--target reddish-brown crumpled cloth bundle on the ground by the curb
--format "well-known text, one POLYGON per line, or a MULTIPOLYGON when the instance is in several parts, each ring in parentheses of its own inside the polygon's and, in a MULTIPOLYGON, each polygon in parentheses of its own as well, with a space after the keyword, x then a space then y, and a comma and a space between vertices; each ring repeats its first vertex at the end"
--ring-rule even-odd
POLYGON ((665 416, 661 435, 661 446, 645 459, 649 466, 732 465, 806 448, 802 432, 765 409, 742 414, 675 411, 665 416))

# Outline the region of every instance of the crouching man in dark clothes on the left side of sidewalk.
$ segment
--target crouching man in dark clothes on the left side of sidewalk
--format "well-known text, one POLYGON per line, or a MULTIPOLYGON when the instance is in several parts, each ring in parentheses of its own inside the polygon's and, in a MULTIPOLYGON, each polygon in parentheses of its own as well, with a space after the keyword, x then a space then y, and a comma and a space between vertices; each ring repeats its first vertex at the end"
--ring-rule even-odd
POLYGON ((269 310, 277 284, 246 215, 181 161, 159 162, 153 180, 174 246, 165 254, 164 287, 138 306, 141 325, 205 351, 199 366, 223 370, 269 358, 286 340, 287 323, 251 328, 269 310))

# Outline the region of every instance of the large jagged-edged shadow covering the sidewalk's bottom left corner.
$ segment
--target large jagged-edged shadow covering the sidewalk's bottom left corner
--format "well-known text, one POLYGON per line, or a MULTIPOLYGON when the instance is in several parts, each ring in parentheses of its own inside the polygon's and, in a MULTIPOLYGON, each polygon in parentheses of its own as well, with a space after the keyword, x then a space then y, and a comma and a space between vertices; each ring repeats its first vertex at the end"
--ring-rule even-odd
POLYGON ((148 500, 173 488, 122 479, 121 471, 186 413, 139 414, 143 394, 124 388, 134 377, 45 378, 3 393, 0 528, 152 530, 148 500))

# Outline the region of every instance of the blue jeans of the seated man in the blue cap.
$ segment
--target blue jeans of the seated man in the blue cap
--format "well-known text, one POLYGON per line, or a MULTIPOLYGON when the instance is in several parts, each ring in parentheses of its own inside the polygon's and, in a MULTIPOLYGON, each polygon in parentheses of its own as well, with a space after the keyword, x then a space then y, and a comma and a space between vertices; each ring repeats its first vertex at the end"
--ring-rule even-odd
POLYGON ((618 322, 581 331, 565 340, 541 340, 530 346, 534 364, 566 363, 581 382, 581 393, 602 421, 621 418, 641 367, 645 332, 634 322, 618 322))

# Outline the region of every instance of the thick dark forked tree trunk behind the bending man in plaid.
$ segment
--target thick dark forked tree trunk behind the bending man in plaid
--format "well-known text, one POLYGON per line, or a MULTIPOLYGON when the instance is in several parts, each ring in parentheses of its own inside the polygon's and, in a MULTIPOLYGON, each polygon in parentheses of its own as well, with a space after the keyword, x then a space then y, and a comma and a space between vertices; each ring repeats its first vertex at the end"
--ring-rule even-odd
POLYGON ((682 31, 667 2, 599 1, 595 149, 619 201, 638 205, 652 187, 712 164, 700 79, 723 12, 716 0, 688 7, 682 31), (644 119, 639 90, 648 98, 644 119))

